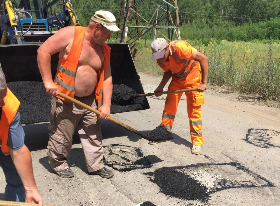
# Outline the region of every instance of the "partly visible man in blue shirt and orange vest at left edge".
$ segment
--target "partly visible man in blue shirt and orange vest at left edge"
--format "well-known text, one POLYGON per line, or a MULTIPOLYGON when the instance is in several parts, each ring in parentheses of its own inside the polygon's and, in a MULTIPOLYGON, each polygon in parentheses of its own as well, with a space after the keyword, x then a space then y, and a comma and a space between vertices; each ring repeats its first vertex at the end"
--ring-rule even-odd
POLYGON ((24 144, 20 102, 7 88, 0 64, 0 166, 6 178, 4 200, 43 205, 33 176, 30 151, 24 144))

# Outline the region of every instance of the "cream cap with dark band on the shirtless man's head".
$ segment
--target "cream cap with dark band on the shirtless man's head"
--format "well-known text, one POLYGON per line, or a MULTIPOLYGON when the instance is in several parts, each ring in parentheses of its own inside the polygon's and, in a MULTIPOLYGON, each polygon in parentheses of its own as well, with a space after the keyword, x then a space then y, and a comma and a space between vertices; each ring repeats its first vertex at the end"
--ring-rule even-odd
POLYGON ((96 11, 90 19, 102 24, 106 29, 112 32, 121 31, 116 25, 115 16, 109 11, 96 11))

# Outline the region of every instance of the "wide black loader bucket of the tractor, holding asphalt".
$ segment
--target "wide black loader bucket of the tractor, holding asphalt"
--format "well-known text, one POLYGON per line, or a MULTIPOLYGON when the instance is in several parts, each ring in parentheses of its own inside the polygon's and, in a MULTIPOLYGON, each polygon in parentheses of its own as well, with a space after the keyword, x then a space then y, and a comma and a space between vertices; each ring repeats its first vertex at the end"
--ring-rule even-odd
MULTIPOLYGON (((109 43, 113 84, 125 84, 138 94, 144 93, 127 43, 109 43)), ((40 44, 0 45, 0 63, 7 86, 21 102, 22 124, 48 122, 51 115, 51 96, 45 92, 37 66, 37 49, 40 44)), ((54 79, 58 53, 51 57, 54 79)), ((111 105, 111 113, 149 109, 146 97, 137 98, 133 105, 111 105)))

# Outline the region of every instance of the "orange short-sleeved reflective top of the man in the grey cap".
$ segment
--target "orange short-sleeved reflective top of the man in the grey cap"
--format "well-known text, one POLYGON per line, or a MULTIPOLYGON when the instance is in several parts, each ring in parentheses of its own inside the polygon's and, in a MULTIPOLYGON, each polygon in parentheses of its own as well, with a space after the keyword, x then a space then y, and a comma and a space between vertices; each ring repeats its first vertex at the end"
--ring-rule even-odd
POLYGON ((177 78, 188 76, 188 79, 193 79, 198 77, 200 75, 200 66, 198 70, 192 70, 199 65, 199 62, 192 59, 196 49, 183 40, 173 41, 168 44, 172 55, 169 56, 169 61, 157 59, 158 65, 165 71, 172 71, 177 78))

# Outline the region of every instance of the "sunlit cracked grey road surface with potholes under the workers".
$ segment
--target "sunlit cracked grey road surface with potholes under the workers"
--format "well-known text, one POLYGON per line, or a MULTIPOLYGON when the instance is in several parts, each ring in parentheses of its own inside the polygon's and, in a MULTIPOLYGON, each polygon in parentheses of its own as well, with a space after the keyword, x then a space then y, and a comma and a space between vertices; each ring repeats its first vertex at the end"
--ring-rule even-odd
MULTIPOLYGON (((146 93, 152 92, 161 80, 161 77, 139 75, 146 93)), ((115 173, 109 180, 87 173, 80 144, 73 145, 69 159, 75 173, 71 179, 59 178, 51 172, 47 149, 33 151, 34 175, 45 204, 135 206, 150 201, 157 206, 278 206, 280 109, 240 102, 233 98, 235 96, 212 90, 205 93, 205 105, 202 106, 205 144, 201 155, 190 153, 192 145, 184 95, 171 141, 149 145, 134 133, 102 121, 106 165, 115 173), (203 202, 207 195, 198 190, 192 180, 210 188, 208 201, 203 202), (194 185, 193 190, 184 192, 186 185, 194 185), (195 195, 198 200, 192 200, 195 195)), ((118 113, 112 117, 148 133, 161 121, 164 99, 164 95, 148 97, 150 109, 118 113)), ((47 124, 25 126, 26 139, 46 140, 46 127, 47 124)), ((0 184, 4 185, 4 182, 3 174, 0 174, 0 184)), ((0 199, 3 193, 4 187, 1 187, 0 199)))

